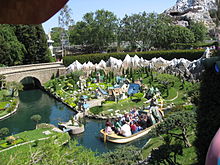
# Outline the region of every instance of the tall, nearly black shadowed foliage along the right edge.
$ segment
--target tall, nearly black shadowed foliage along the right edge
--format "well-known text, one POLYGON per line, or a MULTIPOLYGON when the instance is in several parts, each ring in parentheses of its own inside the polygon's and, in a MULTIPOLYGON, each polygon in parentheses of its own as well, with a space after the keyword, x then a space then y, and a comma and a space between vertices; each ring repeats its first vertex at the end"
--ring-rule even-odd
POLYGON ((200 102, 197 113, 196 148, 199 164, 205 163, 208 147, 219 129, 220 121, 220 76, 214 67, 203 73, 200 87, 200 102))

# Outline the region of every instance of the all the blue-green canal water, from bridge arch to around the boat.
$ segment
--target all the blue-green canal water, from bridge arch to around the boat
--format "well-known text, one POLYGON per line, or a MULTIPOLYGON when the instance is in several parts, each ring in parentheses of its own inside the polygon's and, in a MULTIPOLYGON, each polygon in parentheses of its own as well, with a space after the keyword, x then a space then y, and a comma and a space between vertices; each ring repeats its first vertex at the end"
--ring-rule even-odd
MULTIPOLYGON (((8 119, 0 121, 0 128, 9 128, 12 134, 34 129, 35 123, 30 118, 35 114, 42 116, 40 122, 51 123, 55 126, 60 121, 68 121, 75 114, 67 106, 48 96, 40 89, 20 92, 19 100, 20 104, 17 113, 8 119)), ((80 145, 100 153, 120 147, 120 144, 105 144, 100 139, 99 131, 104 127, 104 123, 105 121, 88 119, 85 124, 85 132, 77 136, 72 136, 72 138, 77 139, 80 145)), ((145 137, 126 145, 132 144, 136 147, 143 147, 147 139, 145 137)))

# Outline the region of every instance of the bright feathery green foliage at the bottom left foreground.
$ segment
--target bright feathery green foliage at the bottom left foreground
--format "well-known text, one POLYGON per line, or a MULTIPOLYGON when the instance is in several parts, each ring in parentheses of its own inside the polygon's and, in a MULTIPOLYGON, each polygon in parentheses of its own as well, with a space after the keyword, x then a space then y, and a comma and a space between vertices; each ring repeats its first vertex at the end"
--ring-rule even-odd
MULTIPOLYGON (((60 145, 57 137, 45 142, 35 142, 27 150, 18 150, 2 164, 47 164, 47 165, 103 165, 103 160, 95 152, 71 141, 68 146, 60 145)), ((64 139, 66 140, 66 139, 64 139)), ((63 143, 63 141, 61 141, 63 143)))

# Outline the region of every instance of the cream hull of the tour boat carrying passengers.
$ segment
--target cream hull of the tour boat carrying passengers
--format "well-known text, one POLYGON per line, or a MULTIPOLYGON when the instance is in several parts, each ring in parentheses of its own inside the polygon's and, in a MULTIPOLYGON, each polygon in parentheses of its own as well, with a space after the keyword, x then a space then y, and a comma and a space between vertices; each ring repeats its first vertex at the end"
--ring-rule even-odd
POLYGON ((107 134, 104 129, 100 130, 100 133, 101 133, 102 138, 104 139, 104 142, 109 141, 109 142, 112 142, 112 143, 123 144, 123 143, 128 143, 128 142, 131 142, 135 139, 138 139, 140 137, 145 136, 156 125, 157 124, 152 125, 151 127, 148 127, 146 129, 144 129, 144 130, 142 130, 138 133, 135 133, 131 136, 128 136, 128 137, 117 135, 114 132, 112 134, 107 134))

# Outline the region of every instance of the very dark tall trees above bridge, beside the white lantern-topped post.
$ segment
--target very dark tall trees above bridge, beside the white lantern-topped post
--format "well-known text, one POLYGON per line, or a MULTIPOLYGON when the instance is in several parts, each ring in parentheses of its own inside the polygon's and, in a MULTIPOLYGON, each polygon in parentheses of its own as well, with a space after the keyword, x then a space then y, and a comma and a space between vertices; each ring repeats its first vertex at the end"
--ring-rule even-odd
POLYGON ((15 34, 27 51, 23 64, 44 63, 51 60, 42 25, 16 25, 15 34))

